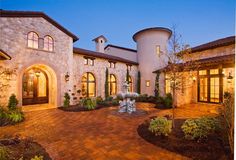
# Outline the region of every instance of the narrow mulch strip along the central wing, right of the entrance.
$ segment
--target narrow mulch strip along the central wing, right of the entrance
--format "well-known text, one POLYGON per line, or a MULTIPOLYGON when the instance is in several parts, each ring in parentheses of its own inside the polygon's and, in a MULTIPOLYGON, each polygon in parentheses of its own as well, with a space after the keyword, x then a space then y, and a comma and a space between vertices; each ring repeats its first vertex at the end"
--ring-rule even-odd
MULTIPOLYGON (((97 110, 97 109, 101 109, 101 108, 108 108, 108 107, 112 107, 112 106, 103 106, 103 105, 97 105, 95 109, 93 110, 97 110)), ((79 106, 79 105, 72 105, 69 107, 58 107, 58 109, 63 110, 65 112, 86 112, 86 111, 92 111, 92 110, 88 110, 87 108, 83 107, 83 106, 79 106)))

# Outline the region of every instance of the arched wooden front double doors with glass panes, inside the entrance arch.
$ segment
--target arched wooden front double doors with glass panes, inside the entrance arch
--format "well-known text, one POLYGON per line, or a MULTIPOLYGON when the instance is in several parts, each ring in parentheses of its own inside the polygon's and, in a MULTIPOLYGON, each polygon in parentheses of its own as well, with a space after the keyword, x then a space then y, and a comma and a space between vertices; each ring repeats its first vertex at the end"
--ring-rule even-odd
POLYGON ((23 75, 23 105, 48 103, 48 77, 37 68, 32 68, 23 75))

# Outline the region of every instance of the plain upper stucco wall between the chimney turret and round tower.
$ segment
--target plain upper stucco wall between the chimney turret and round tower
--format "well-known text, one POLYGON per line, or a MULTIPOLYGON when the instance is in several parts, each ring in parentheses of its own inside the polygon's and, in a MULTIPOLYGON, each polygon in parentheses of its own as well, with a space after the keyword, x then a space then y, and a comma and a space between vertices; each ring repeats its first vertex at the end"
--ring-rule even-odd
POLYGON ((138 62, 137 52, 132 52, 132 51, 128 51, 128 50, 125 50, 125 49, 119 49, 119 48, 115 48, 115 47, 112 47, 112 46, 108 46, 105 49, 105 53, 109 54, 109 55, 121 57, 121 58, 124 58, 124 59, 128 59, 130 61, 138 62))

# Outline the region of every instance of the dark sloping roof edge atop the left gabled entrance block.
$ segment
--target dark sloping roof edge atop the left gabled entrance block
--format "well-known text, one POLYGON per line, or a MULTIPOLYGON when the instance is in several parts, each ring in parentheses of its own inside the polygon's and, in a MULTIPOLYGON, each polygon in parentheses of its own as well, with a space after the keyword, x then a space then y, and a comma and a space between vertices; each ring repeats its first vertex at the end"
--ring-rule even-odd
POLYGON ((0 10, 0 17, 42 17, 46 19, 48 22, 53 24, 55 27, 60 29, 62 32, 73 38, 73 41, 77 41, 79 38, 68 31, 66 28, 61 26, 59 23, 57 23, 55 20, 50 18, 48 15, 46 15, 43 12, 35 12, 35 11, 9 11, 9 10, 0 10))

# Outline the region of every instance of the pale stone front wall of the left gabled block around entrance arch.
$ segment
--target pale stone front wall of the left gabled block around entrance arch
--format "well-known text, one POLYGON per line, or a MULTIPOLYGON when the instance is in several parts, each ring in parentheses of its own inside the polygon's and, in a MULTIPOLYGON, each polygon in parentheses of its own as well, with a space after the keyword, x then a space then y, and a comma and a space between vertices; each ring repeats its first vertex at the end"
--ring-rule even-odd
POLYGON ((57 77, 57 97, 55 105, 60 106, 64 92, 72 87, 72 83, 65 82, 65 74, 73 74, 73 40, 67 34, 56 28, 43 18, 0 18, 1 40, 0 48, 6 51, 12 59, 1 61, 5 68, 17 67, 16 77, 10 82, 11 87, 3 101, 10 94, 15 93, 22 104, 22 75, 23 71, 32 65, 42 64, 51 68, 57 77), (47 52, 27 47, 27 34, 36 32, 40 38, 50 35, 54 39, 54 51, 47 52))

